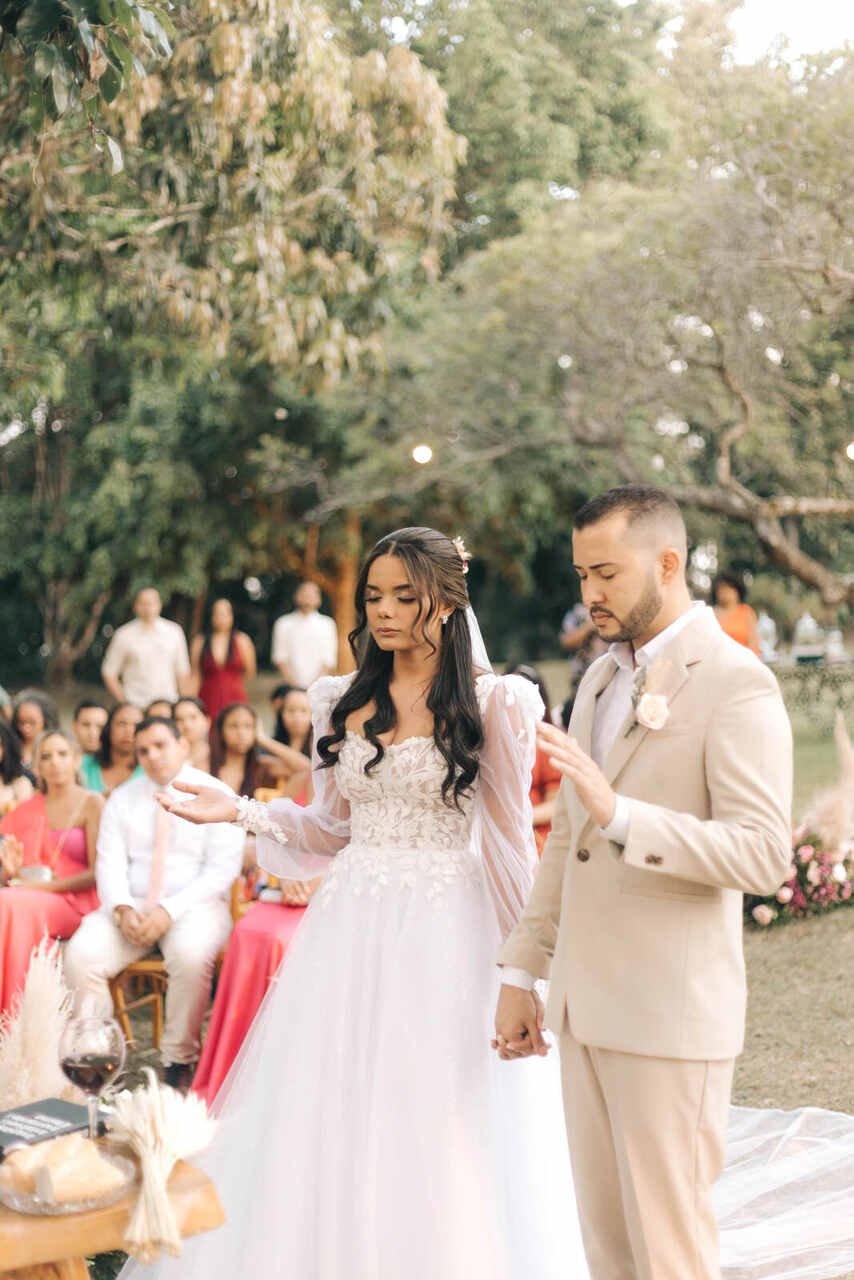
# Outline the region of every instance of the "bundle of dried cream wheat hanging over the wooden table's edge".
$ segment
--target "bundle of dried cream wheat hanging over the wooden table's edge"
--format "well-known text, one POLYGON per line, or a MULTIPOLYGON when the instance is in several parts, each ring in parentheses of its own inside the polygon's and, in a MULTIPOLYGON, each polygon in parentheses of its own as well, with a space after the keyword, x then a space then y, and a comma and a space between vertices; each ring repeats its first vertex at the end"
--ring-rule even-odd
POLYGON ((197 1094, 183 1097, 160 1084, 150 1066, 145 1074, 147 1085, 114 1097, 108 1128, 136 1152, 142 1171, 124 1248, 140 1262, 155 1262, 161 1249, 173 1257, 181 1254, 181 1231, 166 1190, 169 1174, 175 1161, 209 1146, 216 1121, 197 1094))

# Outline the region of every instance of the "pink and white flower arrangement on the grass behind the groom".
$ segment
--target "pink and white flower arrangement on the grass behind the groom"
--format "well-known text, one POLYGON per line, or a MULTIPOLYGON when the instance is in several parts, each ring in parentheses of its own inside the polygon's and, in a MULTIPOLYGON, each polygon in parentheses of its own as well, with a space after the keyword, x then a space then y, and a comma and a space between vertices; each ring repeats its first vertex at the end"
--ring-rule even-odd
POLYGON ((768 897, 745 897, 745 919, 767 928, 775 920, 804 919, 854 902, 854 855, 827 851, 814 832, 799 828, 784 884, 768 897))

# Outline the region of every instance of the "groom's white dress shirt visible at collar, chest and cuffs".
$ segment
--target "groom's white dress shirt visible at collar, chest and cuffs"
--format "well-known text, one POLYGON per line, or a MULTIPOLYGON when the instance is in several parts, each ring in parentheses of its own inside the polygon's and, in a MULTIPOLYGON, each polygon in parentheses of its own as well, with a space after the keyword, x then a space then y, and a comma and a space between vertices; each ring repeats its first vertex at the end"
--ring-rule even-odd
MULTIPOLYGON (((661 658, 663 650, 675 640, 679 632, 693 622, 703 612, 705 605, 697 600, 685 613, 681 613, 675 622, 653 636, 643 648, 634 650, 626 640, 608 646, 608 655, 617 664, 617 671, 597 698, 593 712, 593 732, 590 740, 590 755, 602 768, 608 758, 608 751, 615 744, 617 733, 631 710, 631 696, 635 687, 635 676, 639 667, 650 667, 661 658)), ((626 796, 617 795, 617 804, 613 818, 607 827, 602 828, 606 840, 615 845, 625 845, 629 838, 629 824, 631 822, 631 801, 626 796)), ((504 968, 501 980, 508 987, 522 987, 531 991, 536 978, 525 969, 504 968)))

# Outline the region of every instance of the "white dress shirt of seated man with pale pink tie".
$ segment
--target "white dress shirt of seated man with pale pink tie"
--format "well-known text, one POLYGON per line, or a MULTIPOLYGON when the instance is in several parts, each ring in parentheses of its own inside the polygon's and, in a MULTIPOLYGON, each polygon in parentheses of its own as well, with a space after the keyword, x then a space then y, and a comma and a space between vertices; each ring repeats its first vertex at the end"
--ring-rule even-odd
MULTIPOLYGON (((184 764, 173 781, 233 794, 219 778, 189 764, 184 764)), ((157 809, 154 797, 157 791, 170 788, 172 783, 163 787, 142 774, 123 782, 106 801, 95 860, 97 893, 105 911, 111 913, 122 905, 142 908, 151 879, 157 809)), ((245 840, 239 827, 230 823, 195 826, 170 814, 160 905, 173 920, 200 902, 228 897, 241 873, 245 840)))

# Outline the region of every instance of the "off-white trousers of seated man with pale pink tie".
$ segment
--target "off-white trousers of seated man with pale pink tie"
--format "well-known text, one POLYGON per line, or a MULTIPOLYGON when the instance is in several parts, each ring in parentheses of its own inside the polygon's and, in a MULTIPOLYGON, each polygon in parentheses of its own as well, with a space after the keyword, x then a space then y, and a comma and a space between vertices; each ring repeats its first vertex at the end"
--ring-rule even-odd
MULTIPOLYGON (((225 902, 192 906, 174 920, 157 942, 169 975, 160 1053, 164 1062, 198 1059, 201 1024, 210 1000, 214 963, 232 931, 225 902)), ((65 977, 78 1014, 111 1018, 108 979, 151 947, 128 942, 105 911, 87 915, 65 947, 65 977)))

